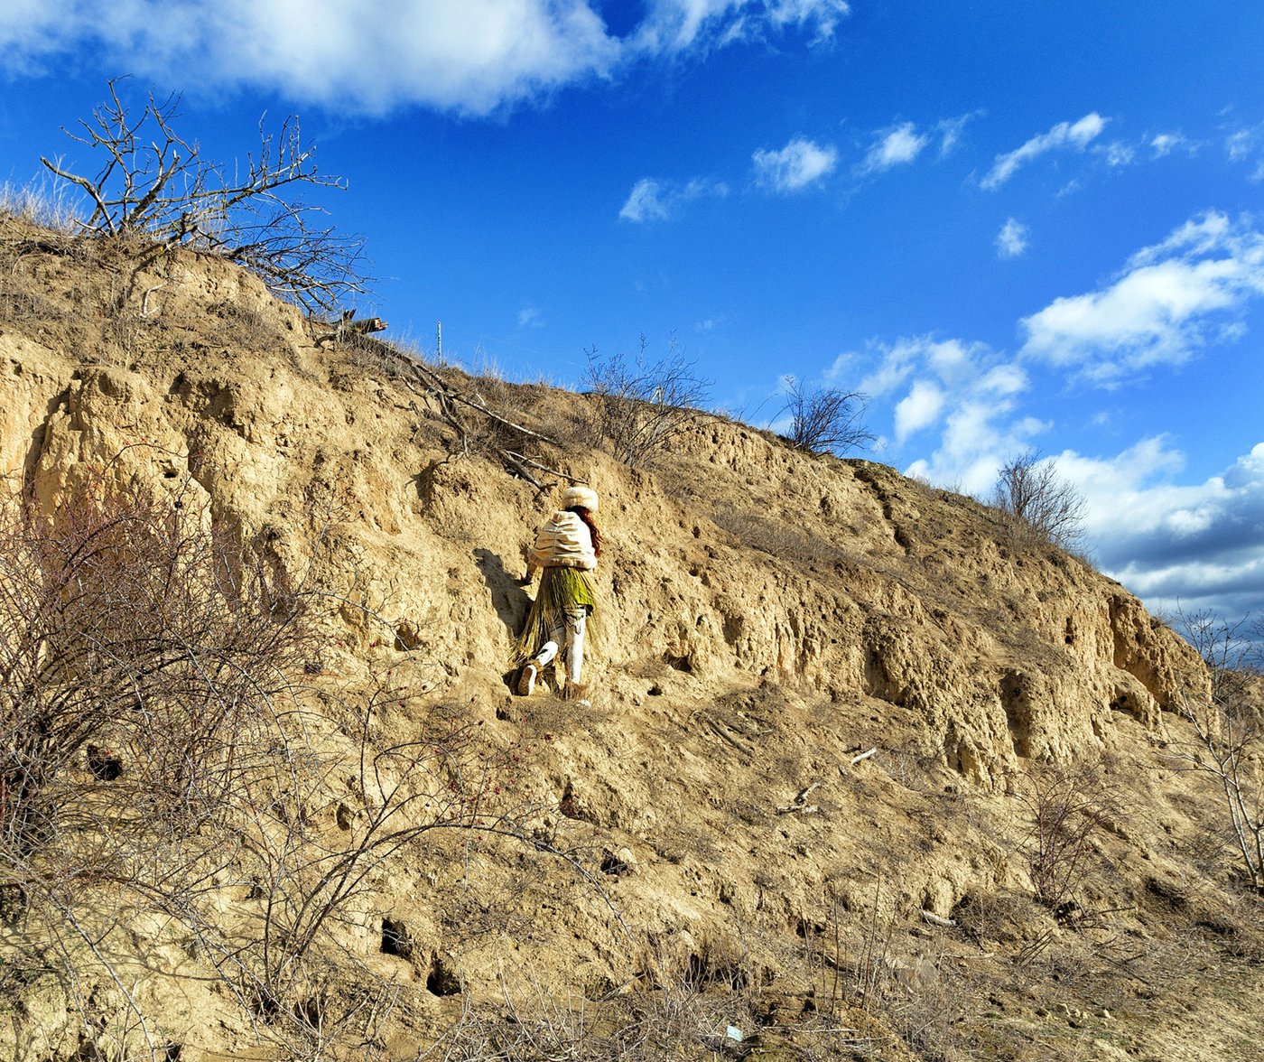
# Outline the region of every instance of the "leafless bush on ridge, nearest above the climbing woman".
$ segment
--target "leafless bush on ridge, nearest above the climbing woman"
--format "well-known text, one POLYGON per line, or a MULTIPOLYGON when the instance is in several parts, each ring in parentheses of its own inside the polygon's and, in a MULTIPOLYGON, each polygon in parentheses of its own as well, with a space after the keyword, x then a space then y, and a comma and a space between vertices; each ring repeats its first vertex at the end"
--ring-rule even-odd
POLYGON ((632 364, 622 354, 602 358, 595 346, 585 351, 593 440, 629 465, 643 464, 685 431, 698 418, 710 388, 710 381, 695 375, 694 363, 678 350, 675 335, 666 357, 657 362, 648 359, 647 346, 642 335, 632 364))

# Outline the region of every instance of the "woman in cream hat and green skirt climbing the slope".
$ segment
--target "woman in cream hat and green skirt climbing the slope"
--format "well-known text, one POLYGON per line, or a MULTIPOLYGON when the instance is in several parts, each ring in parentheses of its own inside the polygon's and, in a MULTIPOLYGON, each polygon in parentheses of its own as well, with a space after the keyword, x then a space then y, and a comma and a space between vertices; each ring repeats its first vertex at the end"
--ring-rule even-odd
POLYGON ((602 554, 602 535, 593 520, 597 492, 592 487, 568 487, 561 506, 536 532, 527 571, 518 580, 528 585, 542 569, 540 590, 514 644, 514 664, 522 668, 517 692, 528 697, 544 669, 565 649, 566 684, 561 695, 578 700, 588 692, 580 681, 584 635, 597 608, 592 571, 602 554))

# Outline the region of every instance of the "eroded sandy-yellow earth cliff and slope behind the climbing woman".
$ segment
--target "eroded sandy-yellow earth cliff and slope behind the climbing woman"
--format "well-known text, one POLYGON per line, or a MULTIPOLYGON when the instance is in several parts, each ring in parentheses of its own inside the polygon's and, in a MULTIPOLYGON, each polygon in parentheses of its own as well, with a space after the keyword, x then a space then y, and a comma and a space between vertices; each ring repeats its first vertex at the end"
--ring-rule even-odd
MULTIPOLYGON (((320 588, 302 694, 316 711, 408 669, 369 742, 459 708, 489 808, 512 781, 512 807, 495 804, 511 837, 470 819, 365 872, 325 961, 358 971, 344 995, 388 984, 392 1004, 360 1047, 346 1019, 324 1049, 412 1058, 446 1035, 469 1052, 450 1057, 561 1057, 542 1039, 517 1056, 470 1047, 507 1043, 513 1006, 518 1033, 592 1038, 565 1057, 617 1057, 618 1030, 624 1057, 659 1057, 646 1015, 683 991, 690 1020, 714 1027, 672 1048, 696 1057, 1249 1057, 1232 1052, 1256 1004, 1224 1011, 1221 994, 1254 984, 1258 908, 1207 856, 1213 789, 1172 755, 1206 670, 1083 560, 1015 541, 969 498, 718 417, 631 469, 585 441, 584 396, 437 368, 564 440, 535 458, 602 497, 592 704, 513 697, 530 603, 514 578, 557 477, 545 492, 514 478, 494 439, 459 437, 408 355, 322 339, 221 262, 9 244, 11 488, 44 513, 102 478, 205 510, 273 579, 320 588), (1033 900, 1050 776, 1101 796, 1064 910, 1033 900), (1187 1011, 1163 1004, 1176 991, 1187 1011), (605 1016, 576 1027, 585 999, 605 1016), (728 1024, 741 1044, 723 1046, 728 1024)), ((317 743, 354 748, 332 723, 317 743)), ((331 847, 373 813, 351 774, 330 771, 307 808, 331 847)), ((248 918, 258 886, 219 874, 224 917, 248 918)), ((159 958, 118 965, 178 1057, 297 1051, 212 957, 162 951, 167 929, 140 912, 124 923, 120 955, 159 958)), ((116 990, 83 976, 102 1000, 116 990)), ((126 1013, 44 985, 21 999, 24 1058, 105 1043, 102 1015, 126 1013)))

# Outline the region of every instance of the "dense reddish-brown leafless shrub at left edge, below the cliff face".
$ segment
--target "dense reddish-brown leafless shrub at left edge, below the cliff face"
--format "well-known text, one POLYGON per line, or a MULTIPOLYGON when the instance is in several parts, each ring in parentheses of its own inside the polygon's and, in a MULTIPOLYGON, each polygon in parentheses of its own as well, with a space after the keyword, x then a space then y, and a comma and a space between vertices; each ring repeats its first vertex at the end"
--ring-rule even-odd
POLYGON ((6 963, 53 963, 72 995, 91 966, 150 1053, 153 1015, 106 939, 135 904, 209 890, 240 794, 283 776, 306 645, 303 597, 215 532, 191 487, 159 498, 100 469, 54 515, 0 499, 6 963))

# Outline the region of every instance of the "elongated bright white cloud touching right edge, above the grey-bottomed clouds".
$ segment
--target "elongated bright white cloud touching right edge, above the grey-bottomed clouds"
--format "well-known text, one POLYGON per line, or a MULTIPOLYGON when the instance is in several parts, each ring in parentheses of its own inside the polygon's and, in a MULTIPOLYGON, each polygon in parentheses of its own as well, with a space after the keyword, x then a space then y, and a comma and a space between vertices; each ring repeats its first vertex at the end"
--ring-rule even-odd
POLYGON ((1261 293, 1264 234, 1205 214, 1133 255, 1107 287, 1055 298, 1023 319, 1023 354, 1115 383, 1184 362, 1211 339, 1241 335, 1241 311, 1261 293))

